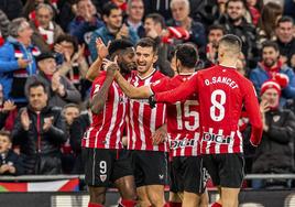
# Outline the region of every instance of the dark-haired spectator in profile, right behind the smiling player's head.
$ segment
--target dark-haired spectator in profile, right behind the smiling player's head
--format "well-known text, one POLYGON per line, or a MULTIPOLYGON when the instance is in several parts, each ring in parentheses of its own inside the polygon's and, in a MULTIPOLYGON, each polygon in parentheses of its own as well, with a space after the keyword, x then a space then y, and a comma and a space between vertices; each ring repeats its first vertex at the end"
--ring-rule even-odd
POLYGON ((144 31, 145 35, 153 39, 157 43, 157 61, 155 67, 164 75, 173 77, 174 73, 171 69, 171 64, 168 62, 170 52, 173 51, 173 46, 165 44, 163 42, 163 35, 165 32, 165 20, 159 13, 150 13, 144 20, 144 31))

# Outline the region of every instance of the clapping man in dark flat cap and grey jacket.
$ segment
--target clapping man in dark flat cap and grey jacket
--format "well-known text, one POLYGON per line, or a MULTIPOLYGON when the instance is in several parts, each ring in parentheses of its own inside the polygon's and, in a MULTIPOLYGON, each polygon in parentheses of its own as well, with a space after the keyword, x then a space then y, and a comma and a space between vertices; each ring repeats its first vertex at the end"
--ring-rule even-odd
POLYGON ((75 86, 57 72, 56 62, 52 53, 42 53, 37 56, 37 67, 40 73, 28 78, 25 92, 29 95, 28 87, 35 80, 42 81, 50 88, 48 106, 63 108, 66 103, 80 101, 80 94, 75 86))

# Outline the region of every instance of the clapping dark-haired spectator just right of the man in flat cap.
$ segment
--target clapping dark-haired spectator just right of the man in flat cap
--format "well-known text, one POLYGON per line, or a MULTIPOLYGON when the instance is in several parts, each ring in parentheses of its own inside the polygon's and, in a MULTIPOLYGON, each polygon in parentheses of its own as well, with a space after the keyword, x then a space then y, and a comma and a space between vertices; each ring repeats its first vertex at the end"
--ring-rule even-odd
POLYGON ((88 64, 84 57, 85 45, 78 45, 74 36, 65 34, 57 39, 54 50, 57 53, 58 72, 84 95, 88 89, 85 85, 85 75, 88 70, 88 64))

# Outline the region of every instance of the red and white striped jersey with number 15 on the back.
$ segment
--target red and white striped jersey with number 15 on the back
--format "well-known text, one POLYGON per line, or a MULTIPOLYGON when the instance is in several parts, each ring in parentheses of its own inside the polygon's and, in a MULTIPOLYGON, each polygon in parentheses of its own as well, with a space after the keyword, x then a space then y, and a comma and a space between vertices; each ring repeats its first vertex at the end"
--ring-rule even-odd
MULTIPOLYGON (((173 78, 162 78, 150 87, 153 92, 177 88, 192 74, 181 74, 173 78)), ((172 156, 196 156, 200 154, 199 145, 199 102, 193 94, 186 101, 166 105, 167 133, 172 156)))

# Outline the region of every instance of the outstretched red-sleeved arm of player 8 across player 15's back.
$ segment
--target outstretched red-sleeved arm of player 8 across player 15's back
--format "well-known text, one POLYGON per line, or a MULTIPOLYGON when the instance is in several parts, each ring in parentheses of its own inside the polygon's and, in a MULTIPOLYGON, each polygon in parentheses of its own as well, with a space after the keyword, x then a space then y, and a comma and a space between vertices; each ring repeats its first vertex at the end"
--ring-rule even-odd
POLYGON ((156 102, 174 103, 176 101, 186 100, 192 94, 198 91, 197 73, 193 75, 187 81, 173 90, 165 92, 155 92, 156 102))

